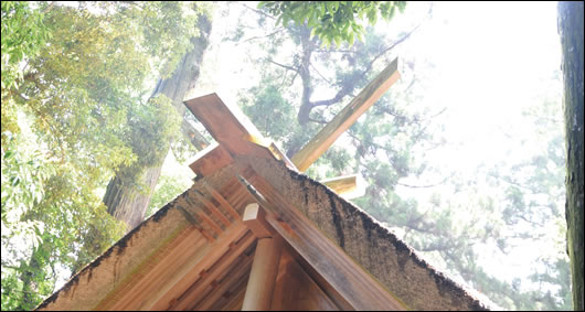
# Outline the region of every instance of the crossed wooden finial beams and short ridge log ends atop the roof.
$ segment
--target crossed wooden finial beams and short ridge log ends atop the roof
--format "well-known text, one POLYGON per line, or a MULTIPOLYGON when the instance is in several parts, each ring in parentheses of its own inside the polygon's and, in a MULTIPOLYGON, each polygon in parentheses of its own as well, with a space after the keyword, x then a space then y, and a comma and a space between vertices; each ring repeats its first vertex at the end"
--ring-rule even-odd
MULTIPOLYGON (((220 142, 201 151, 190 166, 198 175, 205 175, 230 163, 231 154, 258 153, 258 149, 249 144, 256 143, 268 148, 274 157, 285 161, 289 168, 305 172, 398 78, 398 58, 395 58, 290 160, 274 142, 268 142, 242 111, 227 107, 216 94, 190 99, 185 101, 187 107, 220 142)), ((342 195, 357 189, 358 179, 357 175, 340 176, 323 181, 323 184, 342 195)))

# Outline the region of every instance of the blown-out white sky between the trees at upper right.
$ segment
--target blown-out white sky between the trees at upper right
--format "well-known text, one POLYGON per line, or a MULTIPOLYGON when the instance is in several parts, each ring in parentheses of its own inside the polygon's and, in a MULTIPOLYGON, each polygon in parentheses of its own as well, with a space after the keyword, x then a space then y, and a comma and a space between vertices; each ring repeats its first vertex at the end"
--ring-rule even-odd
MULTIPOLYGON (((425 11, 428 4, 408 6, 425 11)), ((408 14, 401 18, 407 20, 408 14)), ((521 110, 539 104, 543 80, 561 66, 556 2, 435 2, 433 20, 401 46, 401 54, 436 65, 436 79, 421 104, 447 107, 442 118, 450 143, 428 155, 436 165, 471 175, 479 163, 520 160, 528 149, 538 148, 512 146, 503 131, 534 132, 533 126, 522 123, 521 110)), ((433 181, 407 184, 425 182, 433 181)), ((432 191, 437 190, 421 190, 432 191)), ((511 280, 526 277, 526 261, 547 252, 555 250, 524 246, 506 259, 486 256, 482 261, 490 273, 511 280)))

